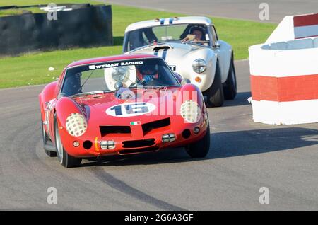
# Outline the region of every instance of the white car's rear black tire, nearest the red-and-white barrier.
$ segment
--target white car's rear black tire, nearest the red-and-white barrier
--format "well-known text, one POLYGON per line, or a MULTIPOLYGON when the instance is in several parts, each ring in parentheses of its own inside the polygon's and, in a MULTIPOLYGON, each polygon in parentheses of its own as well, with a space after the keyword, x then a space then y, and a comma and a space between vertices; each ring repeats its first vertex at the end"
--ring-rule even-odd
POLYGON ((228 71, 228 79, 225 81, 223 86, 224 98, 226 100, 232 100, 236 97, 237 94, 237 81, 236 81, 236 73, 233 62, 233 57, 230 62, 230 69, 228 71))

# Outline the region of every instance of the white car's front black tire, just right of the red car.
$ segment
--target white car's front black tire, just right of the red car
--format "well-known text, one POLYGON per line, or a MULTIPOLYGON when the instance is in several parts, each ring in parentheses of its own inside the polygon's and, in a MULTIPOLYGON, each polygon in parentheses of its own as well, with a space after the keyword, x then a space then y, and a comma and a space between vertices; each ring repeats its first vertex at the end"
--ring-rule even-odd
POLYGON ((216 74, 213 84, 206 91, 206 105, 208 107, 220 107, 224 103, 223 84, 220 76, 220 67, 216 64, 216 74))

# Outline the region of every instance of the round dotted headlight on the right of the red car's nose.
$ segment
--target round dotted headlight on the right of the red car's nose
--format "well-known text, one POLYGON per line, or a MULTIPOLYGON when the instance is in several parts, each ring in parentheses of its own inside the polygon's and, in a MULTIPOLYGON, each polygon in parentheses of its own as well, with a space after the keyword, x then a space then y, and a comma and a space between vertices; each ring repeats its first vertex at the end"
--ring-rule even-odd
POLYGON ((180 115, 184 120, 195 123, 200 120, 201 108, 198 103, 193 100, 186 100, 180 108, 180 115))

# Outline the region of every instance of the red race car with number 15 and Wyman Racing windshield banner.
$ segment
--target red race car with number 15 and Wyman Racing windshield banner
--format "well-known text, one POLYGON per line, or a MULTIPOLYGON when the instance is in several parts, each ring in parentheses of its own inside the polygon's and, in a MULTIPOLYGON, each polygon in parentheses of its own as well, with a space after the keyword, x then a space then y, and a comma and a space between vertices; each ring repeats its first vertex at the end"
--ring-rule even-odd
POLYGON ((208 154, 201 91, 154 55, 73 62, 39 98, 45 152, 66 168, 82 158, 177 146, 194 158, 208 154))

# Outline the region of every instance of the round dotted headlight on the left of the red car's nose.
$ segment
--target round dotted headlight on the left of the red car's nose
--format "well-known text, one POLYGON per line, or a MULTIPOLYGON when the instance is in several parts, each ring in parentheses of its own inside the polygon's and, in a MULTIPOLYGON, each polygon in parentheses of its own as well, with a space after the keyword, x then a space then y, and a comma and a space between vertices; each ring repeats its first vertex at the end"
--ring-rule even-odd
POLYGON ((79 137, 86 132, 87 122, 80 113, 71 113, 66 119, 66 130, 73 137, 79 137))

